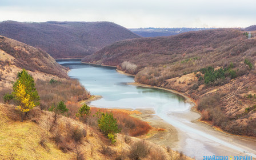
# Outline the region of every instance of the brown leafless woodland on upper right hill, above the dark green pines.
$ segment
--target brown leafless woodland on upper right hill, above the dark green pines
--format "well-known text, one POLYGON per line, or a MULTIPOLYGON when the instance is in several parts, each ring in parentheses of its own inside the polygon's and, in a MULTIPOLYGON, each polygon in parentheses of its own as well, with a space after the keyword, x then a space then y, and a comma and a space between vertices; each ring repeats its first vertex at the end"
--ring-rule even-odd
POLYGON ((114 66, 130 61, 139 66, 158 66, 198 57, 193 66, 196 70, 206 65, 221 65, 235 57, 239 61, 254 47, 255 37, 247 39, 238 29, 190 31, 170 37, 119 41, 82 61, 114 66))

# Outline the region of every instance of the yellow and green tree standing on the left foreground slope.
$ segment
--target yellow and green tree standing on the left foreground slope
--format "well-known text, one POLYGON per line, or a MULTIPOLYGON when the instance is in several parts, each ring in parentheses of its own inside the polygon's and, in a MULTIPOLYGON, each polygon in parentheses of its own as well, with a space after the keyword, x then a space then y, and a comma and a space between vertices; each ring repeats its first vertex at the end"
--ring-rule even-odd
POLYGON ((12 94, 19 104, 16 109, 21 111, 21 121, 23 122, 23 113, 27 113, 40 104, 40 98, 35 89, 34 79, 25 69, 18 73, 18 79, 13 84, 12 94))

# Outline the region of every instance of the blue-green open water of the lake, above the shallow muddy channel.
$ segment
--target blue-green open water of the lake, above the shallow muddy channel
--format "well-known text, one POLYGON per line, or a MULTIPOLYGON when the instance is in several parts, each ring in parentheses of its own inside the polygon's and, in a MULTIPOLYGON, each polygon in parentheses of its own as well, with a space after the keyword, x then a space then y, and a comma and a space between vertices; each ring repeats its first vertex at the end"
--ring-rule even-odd
POLYGON ((69 67, 69 76, 77 78, 93 95, 101 95, 91 105, 99 107, 143 108, 165 111, 189 110, 190 104, 180 95, 153 88, 126 85, 133 77, 119 74, 114 67, 86 65, 79 62, 59 62, 69 67))

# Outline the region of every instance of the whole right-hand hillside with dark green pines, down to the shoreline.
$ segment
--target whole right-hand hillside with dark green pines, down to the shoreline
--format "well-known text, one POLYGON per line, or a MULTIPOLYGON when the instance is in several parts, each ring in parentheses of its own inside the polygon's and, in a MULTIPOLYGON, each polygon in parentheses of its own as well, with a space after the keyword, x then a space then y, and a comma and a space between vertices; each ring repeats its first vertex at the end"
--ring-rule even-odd
POLYGON ((256 137, 256 39, 237 29, 191 31, 113 43, 83 62, 117 66, 135 82, 193 98, 202 120, 256 137), (214 70, 215 69, 215 70, 214 70))

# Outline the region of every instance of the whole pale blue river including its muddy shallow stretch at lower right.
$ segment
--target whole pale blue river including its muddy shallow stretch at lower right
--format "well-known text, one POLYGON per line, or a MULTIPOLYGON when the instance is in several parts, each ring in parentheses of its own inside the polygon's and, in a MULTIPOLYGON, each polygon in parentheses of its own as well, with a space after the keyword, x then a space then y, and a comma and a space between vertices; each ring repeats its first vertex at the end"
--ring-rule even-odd
POLYGON ((102 98, 90 105, 106 108, 154 109, 155 115, 173 125, 179 133, 179 151, 195 159, 203 156, 251 155, 256 158, 256 141, 215 131, 199 122, 190 111, 191 104, 181 95, 150 87, 127 85, 134 78, 118 73, 114 67, 86 65, 78 61, 59 61, 69 67, 69 76, 77 78, 93 95, 102 98))

